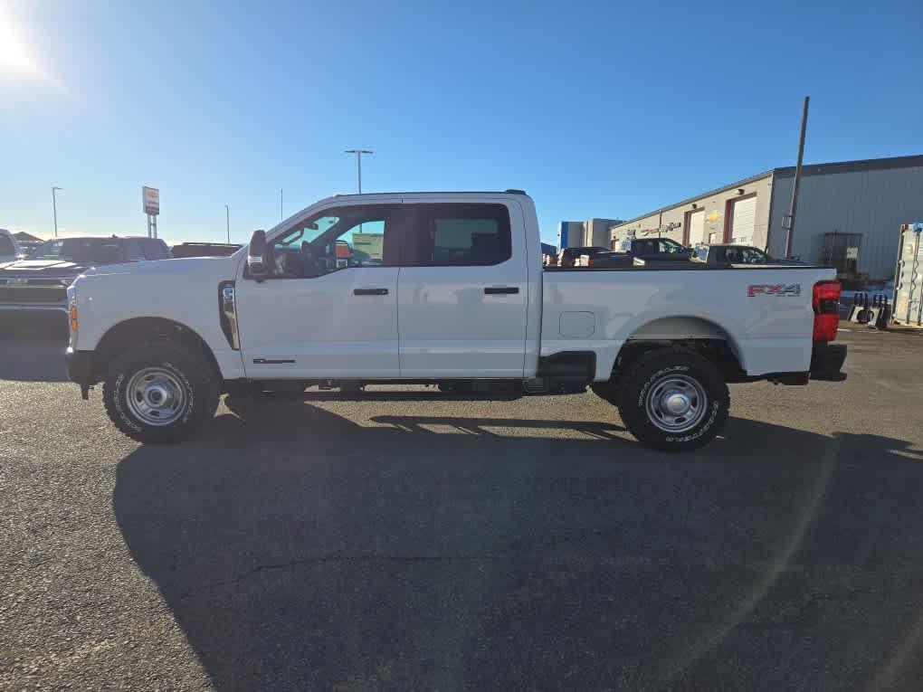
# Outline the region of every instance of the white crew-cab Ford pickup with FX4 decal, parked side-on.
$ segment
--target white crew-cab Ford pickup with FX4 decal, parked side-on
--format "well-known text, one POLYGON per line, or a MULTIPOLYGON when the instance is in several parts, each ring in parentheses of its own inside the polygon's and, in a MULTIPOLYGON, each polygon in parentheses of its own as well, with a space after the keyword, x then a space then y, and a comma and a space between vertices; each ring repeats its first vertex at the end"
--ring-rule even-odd
POLYGON ((728 382, 845 378, 833 276, 543 269, 519 190, 338 196, 230 257, 86 272, 67 290, 66 362, 142 442, 198 432, 223 392, 404 383, 497 399, 590 387, 642 443, 689 449, 721 430, 728 382))

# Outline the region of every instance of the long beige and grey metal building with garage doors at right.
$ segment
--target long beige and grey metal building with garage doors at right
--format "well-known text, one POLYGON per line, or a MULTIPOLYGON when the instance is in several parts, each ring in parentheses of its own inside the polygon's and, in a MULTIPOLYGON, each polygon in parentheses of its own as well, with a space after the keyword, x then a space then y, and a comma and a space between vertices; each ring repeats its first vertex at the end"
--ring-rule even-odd
MULTIPOLYGON (((794 166, 753 175, 618 224, 611 238, 659 235, 684 245, 741 243, 782 257, 794 178, 794 166)), ((792 254, 844 273, 890 278, 900 226, 919 219, 923 156, 805 165, 792 254)))

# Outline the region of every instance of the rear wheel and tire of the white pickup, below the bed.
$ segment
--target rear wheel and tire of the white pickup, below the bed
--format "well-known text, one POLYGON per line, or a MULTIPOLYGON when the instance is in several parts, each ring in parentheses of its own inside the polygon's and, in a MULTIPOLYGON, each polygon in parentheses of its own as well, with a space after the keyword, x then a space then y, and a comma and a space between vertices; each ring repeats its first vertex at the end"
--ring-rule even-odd
POLYGON ((718 368, 678 347, 644 353, 629 366, 618 388, 618 412, 630 433, 664 451, 687 451, 710 442, 725 426, 730 402, 718 368), (658 391, 663 392, 660 397, 658 391), (666 408, 665 397, 671 393, 679 395, 679 409, 689 404, 688 412, 677 415, 666 408))

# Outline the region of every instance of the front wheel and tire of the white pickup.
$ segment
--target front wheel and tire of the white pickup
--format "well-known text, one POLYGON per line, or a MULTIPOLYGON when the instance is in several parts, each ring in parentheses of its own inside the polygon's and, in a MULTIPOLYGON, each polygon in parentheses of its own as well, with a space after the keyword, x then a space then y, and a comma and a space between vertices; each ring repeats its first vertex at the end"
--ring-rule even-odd
POLYGON ((173 341, 149 341, 114 359, 102 386, 102 400, 115 427, 132 439, 146 443, 179 442, 196 435, 214 417, 218 388, 214 364, 202 353, 173 341), (145 372, 148 375, 142 376, 145 372), (146 386, 147 377, 154 379, 146 386), (139 392, 140 388, 151 386, 160 390, 151 389, 150 395, 148 389, 143 394, 139 392), (154 395, 155 401, 167 404, 162 414, 156 406, 149 405, 147 399, 154 395), (128 400, 130 396, 134 403, 128 400), (143 417, 145 409, 149 420, 143 417), (167 422, 152 423, 157 416, 167 422))

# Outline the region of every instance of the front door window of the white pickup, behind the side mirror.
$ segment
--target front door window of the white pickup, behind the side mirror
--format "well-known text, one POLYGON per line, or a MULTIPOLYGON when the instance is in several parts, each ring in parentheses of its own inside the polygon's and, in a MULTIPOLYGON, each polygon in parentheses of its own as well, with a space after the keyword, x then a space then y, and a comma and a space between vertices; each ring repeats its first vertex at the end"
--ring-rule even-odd
POLYGON ((273 277, 310 279, 354 267, 382 267, 390 210, 362 206, 330 209, 273 241, 273 277))

